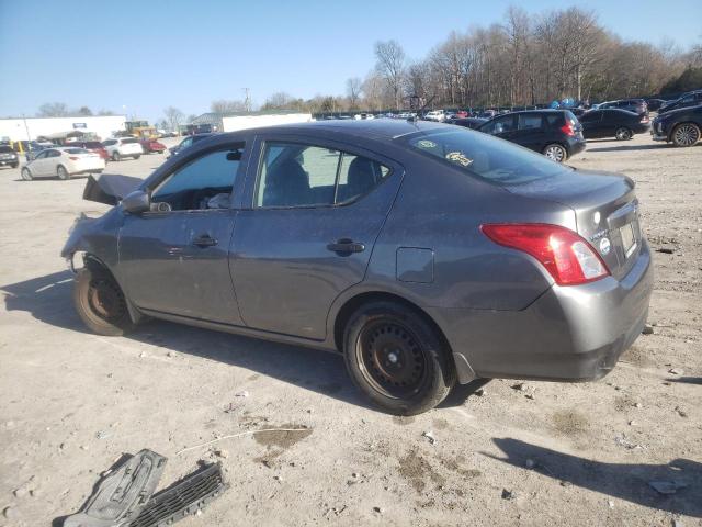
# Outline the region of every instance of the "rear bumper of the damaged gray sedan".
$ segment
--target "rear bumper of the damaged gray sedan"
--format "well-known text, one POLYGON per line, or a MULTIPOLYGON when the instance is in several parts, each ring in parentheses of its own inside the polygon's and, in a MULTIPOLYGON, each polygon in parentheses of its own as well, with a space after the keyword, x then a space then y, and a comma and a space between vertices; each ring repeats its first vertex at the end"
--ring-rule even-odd
POLYGON ((458 380, 474 377, 588 381, 604 377, 641 334, 653 265, 644 243, 621 280, 554 285, 522 311, 437 310, 458 380), (463 363, 465 362, 465 365, 463 363), (469 365, 468 368, 465 368, 469 365))

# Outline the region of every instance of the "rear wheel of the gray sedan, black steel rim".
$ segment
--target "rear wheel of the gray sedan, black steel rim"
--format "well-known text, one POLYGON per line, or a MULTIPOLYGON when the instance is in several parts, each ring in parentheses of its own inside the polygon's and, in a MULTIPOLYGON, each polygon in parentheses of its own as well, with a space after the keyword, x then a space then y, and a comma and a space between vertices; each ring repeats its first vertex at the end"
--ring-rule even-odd
POLYGON ((344 330, 354 384, 377 406, 415 415, 441 403, 456 382, 448 346, 423 316, 394 302, 360 307, 344 330))

